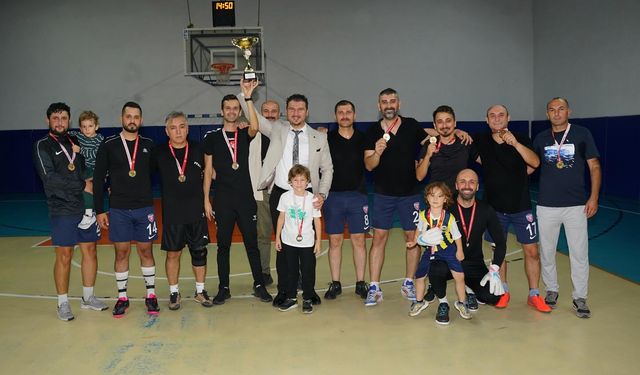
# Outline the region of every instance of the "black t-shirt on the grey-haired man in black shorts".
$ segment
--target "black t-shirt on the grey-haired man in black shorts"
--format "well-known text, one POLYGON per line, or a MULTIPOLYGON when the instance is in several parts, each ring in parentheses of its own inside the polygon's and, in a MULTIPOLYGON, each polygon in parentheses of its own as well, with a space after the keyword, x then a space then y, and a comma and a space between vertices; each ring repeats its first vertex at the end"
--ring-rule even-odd
POLYGON ((204 152, 198 143, 189 142, 189 155, 184 173, 186 180, 180 182, 176 159, 182 167, 186 147, 173 150, 175 158, 171 154, 169 144, 165 143, 156 147, 154 154, 162 183, 162 219, 167 224, 194 223, 202 218, 204 213, 204 152))

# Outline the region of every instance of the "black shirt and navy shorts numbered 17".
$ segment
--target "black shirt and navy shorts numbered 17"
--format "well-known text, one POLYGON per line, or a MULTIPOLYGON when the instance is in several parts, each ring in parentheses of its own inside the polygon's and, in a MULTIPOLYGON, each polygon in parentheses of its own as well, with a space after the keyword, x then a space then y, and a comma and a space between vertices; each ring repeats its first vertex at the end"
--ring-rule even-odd
MULTIPOLYGON (((520 144, 532 149, 529 137, 513 135, 520 144)), ((538 228, 531 211, 527 163, 522 156, 506 142, 497 143, 491 133, 474 136, 472 154, 473 159, 480 157, 482 161, 484 200, 496 210, 505 237, 509 225, 513 224, 519 243, 537 243, 538 228)))

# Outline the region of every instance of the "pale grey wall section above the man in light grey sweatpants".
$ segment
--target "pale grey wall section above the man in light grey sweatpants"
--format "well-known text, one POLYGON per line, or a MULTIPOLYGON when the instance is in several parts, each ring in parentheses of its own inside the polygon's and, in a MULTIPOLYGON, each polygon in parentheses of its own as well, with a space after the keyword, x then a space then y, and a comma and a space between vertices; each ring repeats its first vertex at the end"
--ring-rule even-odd
POLYGON ((574 117, 640 113, 640 1, 537 0, 534 117, 566 97, 574 117))

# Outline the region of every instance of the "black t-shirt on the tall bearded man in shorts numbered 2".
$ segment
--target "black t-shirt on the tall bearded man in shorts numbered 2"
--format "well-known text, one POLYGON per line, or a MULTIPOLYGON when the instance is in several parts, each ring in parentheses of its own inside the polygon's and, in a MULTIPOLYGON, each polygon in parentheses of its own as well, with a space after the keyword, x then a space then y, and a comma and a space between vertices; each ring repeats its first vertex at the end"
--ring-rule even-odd
MULTIPOLYGON (((381 121, 367 129, 366 150, 375 150, 376 142, 382 138, 381 121)), ((415 119, 401 117, 401 121, 396 134, 390 134, 391 139, 380 156, 380 163, 373 170, 375 192, 378 194, 405 197, 417 192, 416 151, 427 134, 415 119)))

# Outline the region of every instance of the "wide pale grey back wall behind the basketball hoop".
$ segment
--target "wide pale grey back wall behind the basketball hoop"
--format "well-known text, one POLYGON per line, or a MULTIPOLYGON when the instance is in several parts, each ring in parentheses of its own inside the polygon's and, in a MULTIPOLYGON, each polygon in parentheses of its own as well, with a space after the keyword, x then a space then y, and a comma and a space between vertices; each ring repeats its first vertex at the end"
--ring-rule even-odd
MULTIPOLYGON (((211 25, 208 0, 190 0, 196 27, 211 25)), ((257 0, 238 0, 238 26, 255 26, 257 0)), ((506 103, 530 119, 533 16, 530 0, 279 0, 261 2, 268 88, 262 97, 309 97, 310 122, 331 121, 333 105, 355 102, 358 120, 377 118, 377 93, 400 92, 403 113, 429 120, 450 104, 461 120, 480 120, 506 103)), ((183 76, 186 2, 44 1, 3 4, 0 129, 44 127, 53 101, 73 117, 91 108, 103 126, 119 126, 127 100, 147 124, 164 114, 215 113, 222 94, 183 76)))

